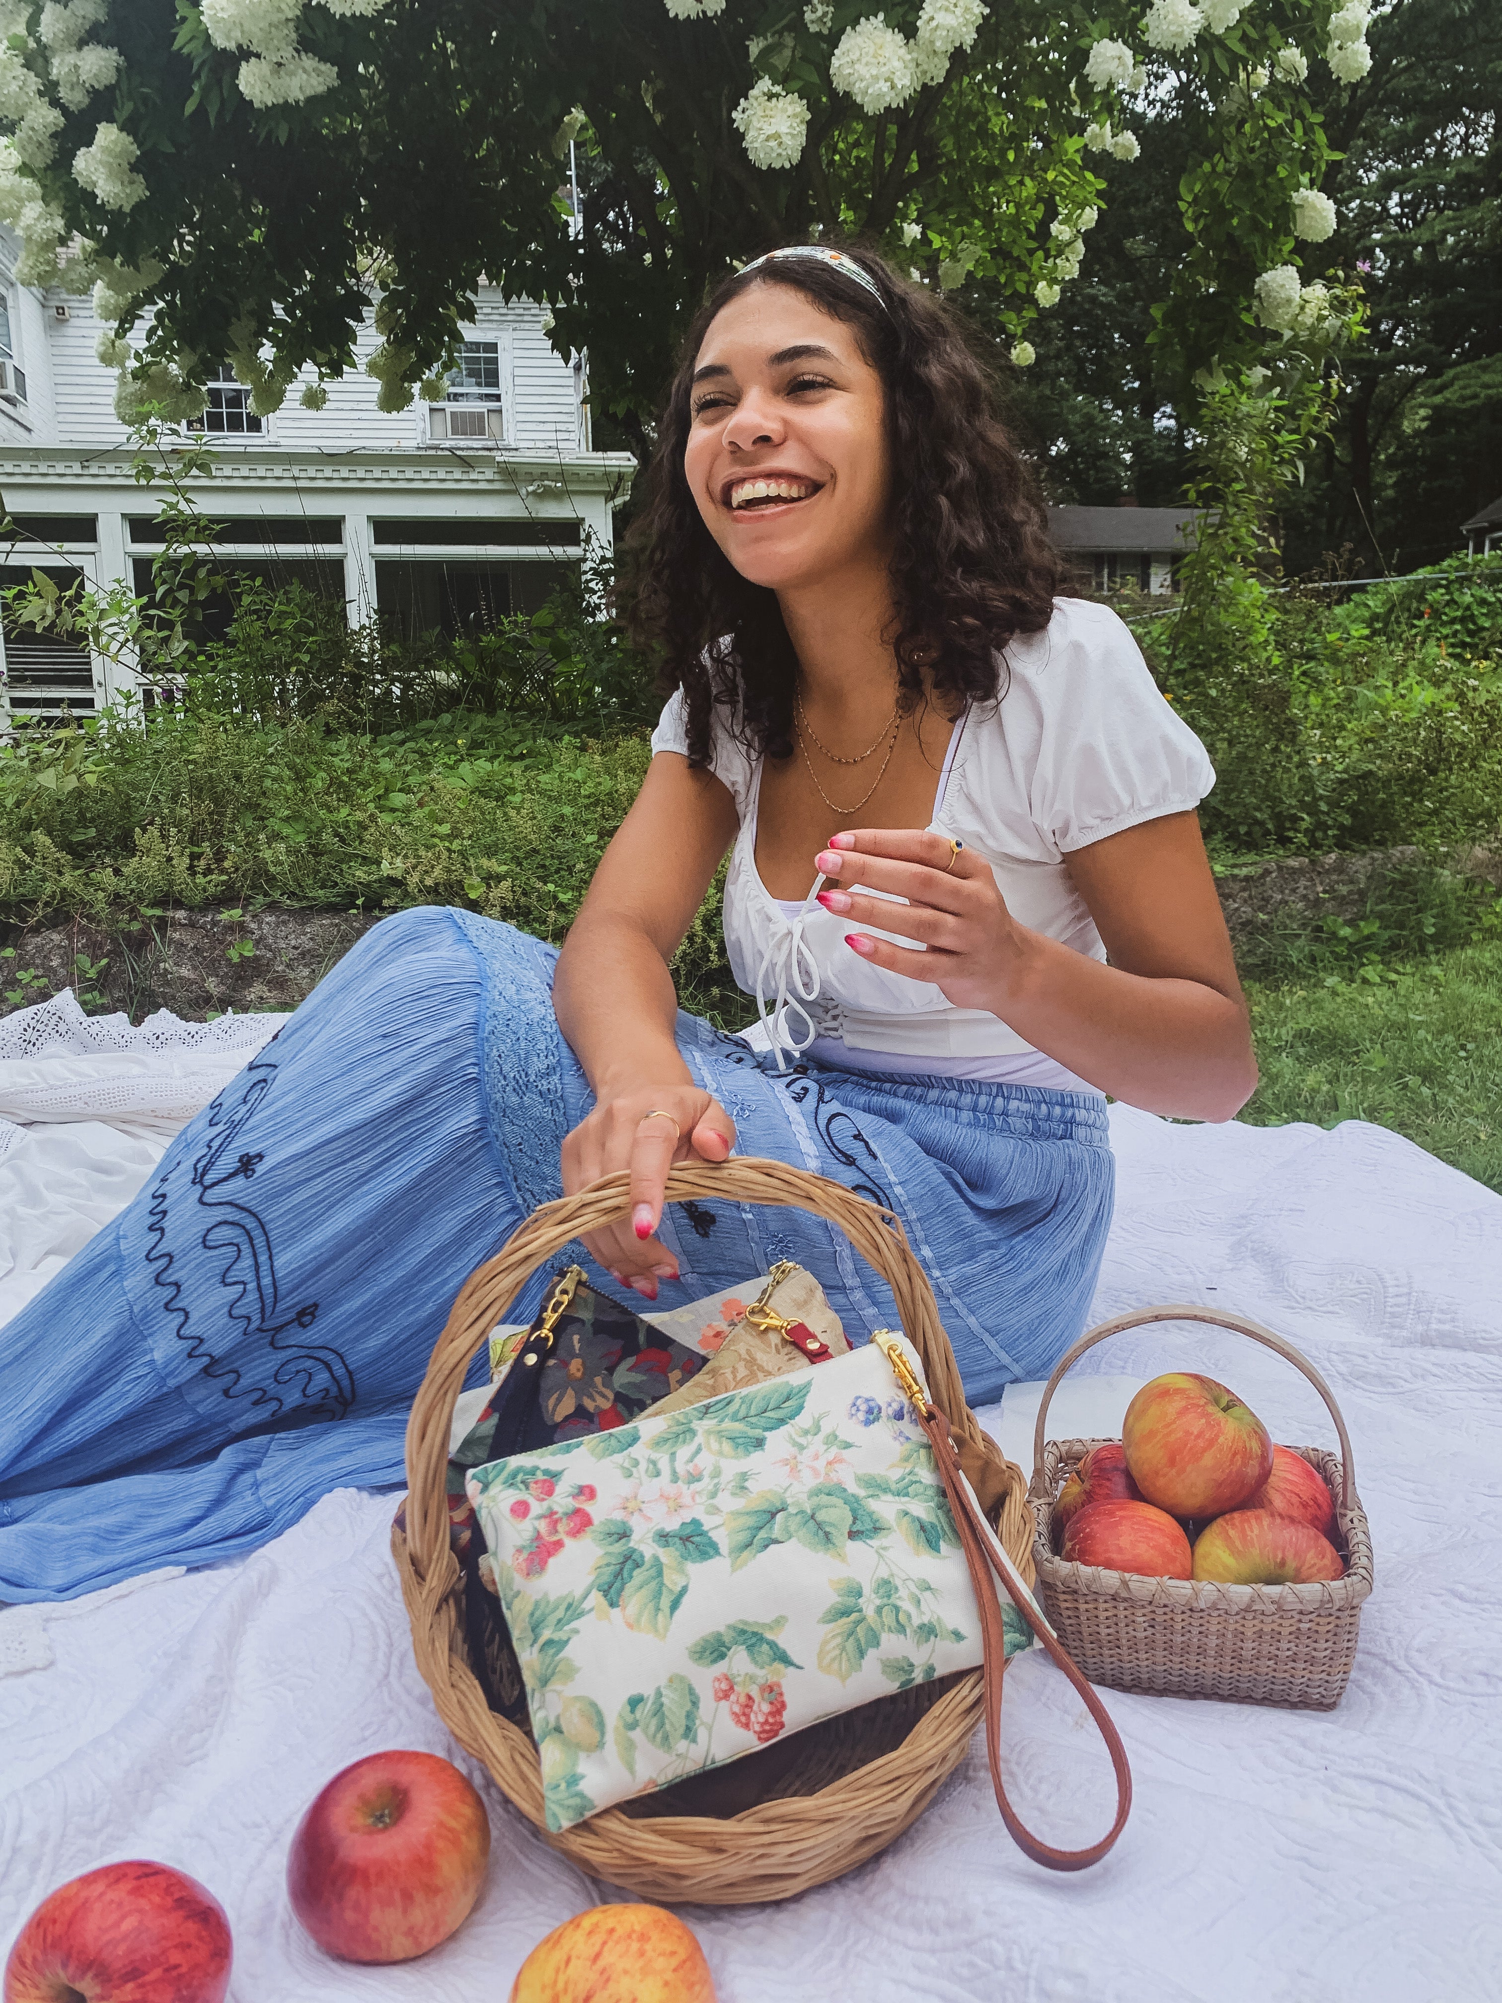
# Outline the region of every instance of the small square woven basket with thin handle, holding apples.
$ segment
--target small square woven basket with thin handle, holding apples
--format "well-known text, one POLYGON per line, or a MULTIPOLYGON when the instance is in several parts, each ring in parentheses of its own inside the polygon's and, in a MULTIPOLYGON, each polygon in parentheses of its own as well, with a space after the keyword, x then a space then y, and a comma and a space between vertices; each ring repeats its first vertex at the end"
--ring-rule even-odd
POLYGON ((1218 1697, 1232 1705, 1290 1705, 1334 1711, 1356 1660, 1362 1600, 1372 1590, 1372 1538, 1356 1494, 1350 1438, 1320 1372, 1270 1328, 1214 1308, 1142 1308, 1101 1322, 1059 1360, 1043 1390, 1033 1434, 1029 1502, 1037 1520, 1037 1586, 1059 1640, 1091 1683, 1166 1697, 1218 1697), (1340 1436, 1340 1460, 1320 1446, 1296 1452, 1316 1468, 1336 1502, 1346 1576, 1314 1586, 1222 1586, 1188 1578, 1142 1578, 1099 1564, 1065 1564, 1053 1554, 1053 1502, 1073 1468, 1099 1440, 1043 1444, 1049 1400, 1085 1350, 1146 1322, 1210 1322, 1232 1328, 1288 1358, 1324 1398, 1340 1436))

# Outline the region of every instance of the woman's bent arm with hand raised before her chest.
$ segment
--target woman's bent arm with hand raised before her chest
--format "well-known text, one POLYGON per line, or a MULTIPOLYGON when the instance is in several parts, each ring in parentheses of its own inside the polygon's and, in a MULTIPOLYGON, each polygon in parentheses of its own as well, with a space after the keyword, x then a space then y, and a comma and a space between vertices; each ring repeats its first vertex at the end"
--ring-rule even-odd
POLYGON ((1194 813, 1128 827, 1069 855, 1109 965, 1019 925, 989 865, 919 831, 835 835, 839 889, 827 909, 929 949, 863 939, 875 965, 935 981, 957 1008, 983 1008, 1111 1098, 1180 1120, 1232 1120, 1258 1068, 1232 943, 1194 813), (849 845, 849 847, 847 847, 849 845), (849 849, 855 853, 849 853, 849 849), (857 885, 897 891, 909 909, 857 885), (843 899, 843 903, 841 903, 843 899))

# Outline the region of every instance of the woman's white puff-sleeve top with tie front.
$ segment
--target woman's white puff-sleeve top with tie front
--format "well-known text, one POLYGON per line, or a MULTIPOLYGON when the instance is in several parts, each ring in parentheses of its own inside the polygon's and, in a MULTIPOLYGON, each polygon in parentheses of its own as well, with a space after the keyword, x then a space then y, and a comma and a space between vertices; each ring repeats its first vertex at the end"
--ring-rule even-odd
MULTIPOLYGON (((1023 925, 1103 959, 1067 857, 1198 807, 1214 767, 1105 605, 1055 599, 1047 629, 1011 641, 1003 669, 1001 695, 971 705, 955 725, 929 827, 989 861, 1023 925)), ((657 751, 687 753, 681 693, 653 733, 657 751)), ((801 905, 771 897, 755 863, 761 761, 719 719, 711 769, 741 821, 725 883, 725 945, 779 1064, 811 1052, 857 1070, 1045 1082, 1019 1070, 1015 1060, 1033 1046, 997 1016, 953 1008, 937 987, 859 959, 843 939, 847 921, 813 903, 823 877, 801 905)), ((1059 1070, 1059 1082, 1067 1076, 1059 1070)))

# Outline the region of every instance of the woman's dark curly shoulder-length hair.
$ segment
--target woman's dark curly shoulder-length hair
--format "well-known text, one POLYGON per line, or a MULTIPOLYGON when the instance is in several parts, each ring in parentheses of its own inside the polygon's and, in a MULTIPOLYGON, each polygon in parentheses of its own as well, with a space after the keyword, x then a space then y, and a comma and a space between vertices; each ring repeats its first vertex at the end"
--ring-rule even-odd
POLYGON ((899 701, 957 713, 1001 693, 999 653, 1053 615, 1059 561, 1037 483, 999 417, 995 377, 959 314, 855 246, 881 292, 815 258, 727 278, 689 326, 667 393, 645 507, 625 539, 623 607, 657 659, 663 693, 687 697, 689 763, 709 763, 719 707, 753 753, 793 749, 797 655, 777 595, 731 565, 683 473, 691 379, 709 322, 751 284, 785 284, 855 330, 885 389, 893 489, 891 647, 899 701), (883 310, 885 306, 885 310, 883 310), (739 713, 739 721, 737 721, 739 713))

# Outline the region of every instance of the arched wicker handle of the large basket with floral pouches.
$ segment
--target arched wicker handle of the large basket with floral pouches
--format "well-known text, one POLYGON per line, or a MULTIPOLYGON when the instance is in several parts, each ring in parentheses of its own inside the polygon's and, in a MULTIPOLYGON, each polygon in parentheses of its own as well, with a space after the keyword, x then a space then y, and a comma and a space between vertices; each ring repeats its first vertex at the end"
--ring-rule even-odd
MULTIPOLYGON (((731 1156, 729 1162, 681 1162, 669 1170, 665 1202, 681 1204, 691 1198, 811 1210, 835 1224, 891 1288, 897 1320, 923 1358, 923 1370, 935 1398, 947 1412, 959 1414, 955 1432, 981 1450, 991 1446, 965 1402, 933 1288, 913 1258, 901 1220, 893 1212, 881 1210, 863 1196, 853 1196, 827 1176, 755 1156, 731 1156)), ((615 1176, 601 1176, 599 1182, 591 1182, 573 1196, 543 1204, 517 1226, 497 1256, 473 1272, 459 1290, 407 1422, 407 1542, 419 1576, 429 1580, 435 1590, 447 1590, 451 1582, 447 1564, 455 1564, 449 1552, 449 1424, 469 1362, 495 1324, 505 1320, 507 1308, 533 1272, 573 1238, 625 1216, 629 1202, 631 1176, 623 1170, 615 1176)))

